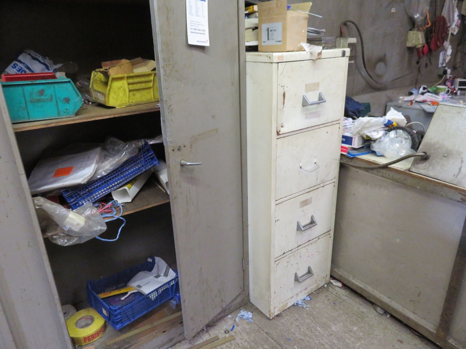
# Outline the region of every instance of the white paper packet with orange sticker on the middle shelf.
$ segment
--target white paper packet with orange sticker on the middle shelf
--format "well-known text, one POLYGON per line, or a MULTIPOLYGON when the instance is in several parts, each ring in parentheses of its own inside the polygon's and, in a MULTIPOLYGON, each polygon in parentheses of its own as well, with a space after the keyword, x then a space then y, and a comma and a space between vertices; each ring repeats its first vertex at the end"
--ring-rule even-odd
POLYGON ((31 194, 86 183, 100 161, 102 148, 86 152, 43 159, 27 179, 31 194))

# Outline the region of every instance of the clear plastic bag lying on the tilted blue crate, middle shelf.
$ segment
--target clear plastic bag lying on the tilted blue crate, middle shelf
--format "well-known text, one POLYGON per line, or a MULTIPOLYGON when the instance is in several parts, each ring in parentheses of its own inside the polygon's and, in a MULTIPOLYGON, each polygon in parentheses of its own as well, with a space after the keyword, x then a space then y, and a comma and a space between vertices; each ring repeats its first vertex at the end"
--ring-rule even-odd
POLYGON ((107 138, 103 144, 103 152, 100 163, 97 165, 94 175, 88 182, 109 174, 130 157, 137 155, 138 146, 135 142, 125 143, 115 137, 107 138))

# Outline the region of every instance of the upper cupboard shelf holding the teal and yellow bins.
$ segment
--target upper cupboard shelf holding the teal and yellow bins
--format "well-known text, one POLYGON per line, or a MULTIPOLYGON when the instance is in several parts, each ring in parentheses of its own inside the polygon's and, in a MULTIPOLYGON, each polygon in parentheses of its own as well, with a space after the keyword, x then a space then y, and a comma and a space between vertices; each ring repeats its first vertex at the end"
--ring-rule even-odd
POLYGON ((13 124, 13 130, 14 132, 21 132, 39 128, 69 125, 78 122, 110 119, 118 116, 143 114, 156 111, 160 111, 158 102, 144 103, 122 108, 106 107, 100 104, 87 104, 83 105, 76 112, 76 115, 70 118, 21 122, 13 124))

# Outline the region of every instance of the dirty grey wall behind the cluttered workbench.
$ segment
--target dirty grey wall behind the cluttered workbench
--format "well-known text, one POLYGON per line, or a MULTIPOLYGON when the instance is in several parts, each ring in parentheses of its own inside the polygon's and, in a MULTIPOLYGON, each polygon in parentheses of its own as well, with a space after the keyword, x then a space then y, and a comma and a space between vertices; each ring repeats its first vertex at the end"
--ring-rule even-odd
MULTIPOLYGON (((303 0, 288 0, 289 4, 303 2, 303 0)), ((430 18, 435 18, 435 4, 437 2, 437 15, 441 13, 443 0, 432 0, 430 7, 430 18)), ((458 1, 461 8, 462 1, 458 1)), ((344 20, 354 20, 363 32, 366 62, 372 76, 378 81, 390 81, 405 74, 403 79, 385 85, 382 90, 414 85, 418 74, 418 57, 412 48, 406 47, 408 30, 411 29, 411 19, 404 9, 404 0, 315 0, 311 12, 323 16, 322 19, 309 16, 309 27, 325 28, 327 36, 340 36, 340 24, 344 20), (396 9, 391 13, 391 9, 396 9)), ((456 37, 452 38, 452 59, 447 64, 452 67, 453 55, 461 34, 459 30, 456 37)), ((356 30, 351 24, 344 28, 346 36, 357 37, 356 30)), ((359 41, 359 39, 358 39, 359 41)), ((441 49, 434 52, 431 57, 424 57, 420 64, 419 83, 439 81, 437 68, 439 64, 439 53, 441 49), (429 62, 428 67, 425 63, 429 62)), ((350 63, 348 69, 347 94, 356 96, 380 91, 371 87, 363 78, 358 69, 362 68, 361 51, 359 42, 356 50, 356 64, 350 63)), ((464 57, 464 56, 463 56, 464 57)), ((455 70, 454 74, 463 77, 463 71, 455 70)))

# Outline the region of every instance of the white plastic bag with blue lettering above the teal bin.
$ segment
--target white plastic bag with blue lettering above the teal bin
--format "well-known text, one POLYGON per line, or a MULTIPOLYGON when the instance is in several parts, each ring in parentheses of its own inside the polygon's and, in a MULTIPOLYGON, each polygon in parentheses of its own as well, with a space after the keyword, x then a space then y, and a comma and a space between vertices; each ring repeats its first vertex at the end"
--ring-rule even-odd
POLYGON ((61 64, 54 64, 32 50, 24 50, 4 71, 4 74, 55 72, 61 64))

